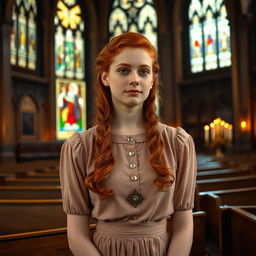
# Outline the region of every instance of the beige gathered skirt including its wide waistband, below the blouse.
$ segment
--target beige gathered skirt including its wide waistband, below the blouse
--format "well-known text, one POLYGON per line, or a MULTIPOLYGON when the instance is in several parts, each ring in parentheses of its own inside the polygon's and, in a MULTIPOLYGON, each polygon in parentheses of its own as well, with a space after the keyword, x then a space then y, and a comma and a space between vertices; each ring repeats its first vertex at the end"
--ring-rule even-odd
POLYGON ((93 243, 102 256, 166 256, 167 221, 138 224, 98 221, 93 243))

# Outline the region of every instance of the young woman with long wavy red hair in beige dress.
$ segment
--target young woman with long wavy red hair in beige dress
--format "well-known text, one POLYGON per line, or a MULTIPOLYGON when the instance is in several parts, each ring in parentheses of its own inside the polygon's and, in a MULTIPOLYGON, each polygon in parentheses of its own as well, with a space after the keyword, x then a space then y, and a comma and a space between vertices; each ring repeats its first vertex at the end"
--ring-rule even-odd
POLYGON ((96 122, 63 145, 60 175, 75 256, 187 256, 196 156, 190 135, 159 122, 157 53, 141 34, 96 59, 96 122), (172 232, 167 232, 167 216, 172 232), (97 220, 92 239, 89 216, 97 220))

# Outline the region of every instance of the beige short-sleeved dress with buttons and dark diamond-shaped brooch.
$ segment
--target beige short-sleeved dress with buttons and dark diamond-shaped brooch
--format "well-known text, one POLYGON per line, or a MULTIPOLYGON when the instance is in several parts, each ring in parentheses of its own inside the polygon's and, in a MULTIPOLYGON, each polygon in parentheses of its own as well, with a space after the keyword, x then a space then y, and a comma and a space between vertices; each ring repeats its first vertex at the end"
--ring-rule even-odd
POLYGON ((60 177, 67 214, 97 219, 93 243, 103 256, 164 256, 169 245, 166 217, 194 206, 196 155, 192 137, 182 128, 159 123, 167 166, 175 182, 161 192, 153 183, 146 134, 112 135, 115 166, 103 186, 114 195, 100 200, 84 185, 93 172, 96 128, 75 133, 63 144, 60 177))

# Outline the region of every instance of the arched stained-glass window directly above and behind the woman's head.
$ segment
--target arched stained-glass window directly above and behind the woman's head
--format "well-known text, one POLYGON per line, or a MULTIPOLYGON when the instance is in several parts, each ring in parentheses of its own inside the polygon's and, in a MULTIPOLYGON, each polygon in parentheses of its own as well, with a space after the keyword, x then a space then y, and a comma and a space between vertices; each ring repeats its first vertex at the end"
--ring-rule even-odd
POLYGON ((153 0, 115 0, 109 16, 110 37, 124 32, 144 34, 157 48, 157 13, 153 0))

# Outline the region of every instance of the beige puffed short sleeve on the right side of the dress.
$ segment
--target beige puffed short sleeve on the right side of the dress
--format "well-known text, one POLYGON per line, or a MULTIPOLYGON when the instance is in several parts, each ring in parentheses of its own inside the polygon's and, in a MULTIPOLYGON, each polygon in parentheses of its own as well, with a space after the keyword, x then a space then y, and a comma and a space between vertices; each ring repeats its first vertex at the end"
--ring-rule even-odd
POLYGON ((190 210, 194 207, 197 160, 192 137, 180 127, 177 128, 176 146, 177 170, 174 210, 190 210))

